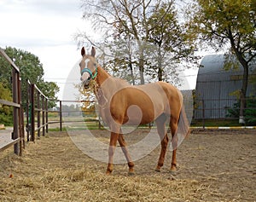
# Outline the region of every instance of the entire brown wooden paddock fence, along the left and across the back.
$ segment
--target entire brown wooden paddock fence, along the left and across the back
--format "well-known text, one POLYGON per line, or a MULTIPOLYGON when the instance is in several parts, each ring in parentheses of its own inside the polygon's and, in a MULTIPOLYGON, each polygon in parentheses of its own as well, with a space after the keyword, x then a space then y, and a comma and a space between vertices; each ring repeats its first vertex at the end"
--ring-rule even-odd
MULTIPOLYGON (((20 87, 20 69, 15 63, 6 55, 3 49, 0 48, 0 55, 9 62, 10 68, 12 68, 12 101, 6 101, 0 99, 0 107, 9 106, 13 107, 13 132, 10 134, 4 134, 8 137, 9 141, 1 141, 0 138, 0 152, 6 148, 14 146, 14 152, 21 155, 22 148, 25 148, 25 133, 24 133, 24 112, 21 106, 21 87, 20 87)), ((59 109, 57 111, 49 110, 49 98, 45 96, 40 89, 38 89, 36 84, 31 84, 27 81, 27 100, 26 100, 26 140, 35 141, 35 135, 37 133, 38 137, 45 136, 45 133, 49 130, 49 124, 59 124, 60 130, 62 130, 62 124, 66 122, 84 122, 86 120, 63 120, 63 114, 67 113, 62 110, 63 102, 86 102, 86 101, 58 101, 59 109), (49 113, 58 113, 58 119, 55 121, 49 121, 49 113)), ((251 101, 255 103, 254 100, 251 101)), ((205 124, 205 119, 207 119, 207 114, 215 114, 221 112, 224 113, 223 117, 216 118, 227 118, 226 111, 230 108, 227 107, 216 107, 216 101, 211 101, 211 106, 209 107, 206 101, 194 101, 194 120, 201 119, 202 124, 205 124), (213 106, 213 107, 212 107, 213 106)), ((234 102, 234 101, 233 101, 234 102)), ((232 102, 232 104, 234 104, 232 102)), ((231 107, 232 105, 230 105, 231 107)), ((247 107, 247 110, 256 111, 255 107, 247 107)), ((77 112, 77 111, 76 111, 77 112)), ((68 113, 71 113, 70 111, 68 113)), ((253 118, 255 113, 253 113, 253 118)), ((191 115, 192 116, 192 115, 191 115)), ((212 117, 211 117, 212 118, 212 117)), ((234 119, 234 118, 233 118, 234 119)), ((237 118, 236 118, 237 119, 237 118)), ((90 121, 96 121, 99 128, 101 124, 99 119, 90 119, 90 121)), ((1 134, 1 136, 3 136, 1 134)))

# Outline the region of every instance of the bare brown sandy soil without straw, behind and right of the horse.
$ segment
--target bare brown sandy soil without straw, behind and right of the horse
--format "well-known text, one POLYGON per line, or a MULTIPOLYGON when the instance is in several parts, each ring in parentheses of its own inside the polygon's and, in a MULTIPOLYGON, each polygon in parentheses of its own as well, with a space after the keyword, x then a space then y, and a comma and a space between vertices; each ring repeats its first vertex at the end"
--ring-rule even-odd
MULTIPOLYGON (((133 133, 125 136, 128 143, 141 140, 148 130, 133 133)), ((106 131, 97 131, 96 136, 106 136, 106 131)), ((135 162, 137 175, 152 175, 159 154, 157 147, 135 162)), ((170 178, 171 158, 169 151, 162 177, 170 178)), ((177 164, 172 177, 201 182, 212 192, 207 200, 256 201, 256 130, 193 130, 178 147, 177 164)), ((125 174, 122 167, 116 165, 114 173, 125 174)))

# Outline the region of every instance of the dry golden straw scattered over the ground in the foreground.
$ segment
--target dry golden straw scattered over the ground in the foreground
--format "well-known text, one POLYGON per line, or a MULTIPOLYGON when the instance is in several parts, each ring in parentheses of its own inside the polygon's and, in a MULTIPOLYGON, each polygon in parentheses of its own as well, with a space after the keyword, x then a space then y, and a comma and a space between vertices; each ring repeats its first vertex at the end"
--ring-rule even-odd
POLYGON ((127 176, 126 165, 106 176, 106 164, 81 153, 66 133, 48 137, 29 143, 21 158, 4 151, 0 201, 204 201, 209 193, 195 180, 153 170, 127 176))

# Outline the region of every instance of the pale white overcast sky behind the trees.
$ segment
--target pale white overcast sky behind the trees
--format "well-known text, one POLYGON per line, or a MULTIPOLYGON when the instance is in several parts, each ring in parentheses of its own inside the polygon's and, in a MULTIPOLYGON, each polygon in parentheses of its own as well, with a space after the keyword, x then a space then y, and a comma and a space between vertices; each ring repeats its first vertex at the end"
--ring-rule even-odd
MULTIPOLYGON (((81 55, 74 35, 91 29, 82 14, 81 0, 0 0, 0 47, 11 46, 37 55, 43 63, 44 80, 60 87, 60 100, 66 89, 73 89, 74 81, 79 83, 74 66, 81 55)), ((191 89, 195 89, 196 71, 185 74, 192 75, 188 79, 191 89)))

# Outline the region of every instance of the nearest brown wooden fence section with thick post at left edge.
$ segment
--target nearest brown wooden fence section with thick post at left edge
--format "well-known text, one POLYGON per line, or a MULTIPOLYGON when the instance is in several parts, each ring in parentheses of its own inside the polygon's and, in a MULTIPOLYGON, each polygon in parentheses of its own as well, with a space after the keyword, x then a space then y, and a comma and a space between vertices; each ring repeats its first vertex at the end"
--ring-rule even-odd
POLYGON ((20 88, 20 69, 15 63, 5 54, 3 49, 0 48, 0 55, 9 62, 12 68, 12 101, 0 100, 1 106, 13 107, 13 132, 11 134, 3 134, 7 141, 0 142, 0 151, 14 145, 14 152, 18 155, 22 153, 22 147, 25 148, 24 141, 24 119, 23 109, 21 107, 21 88, 20 88), (10 136, 10 138, 9 138, 10 136))

